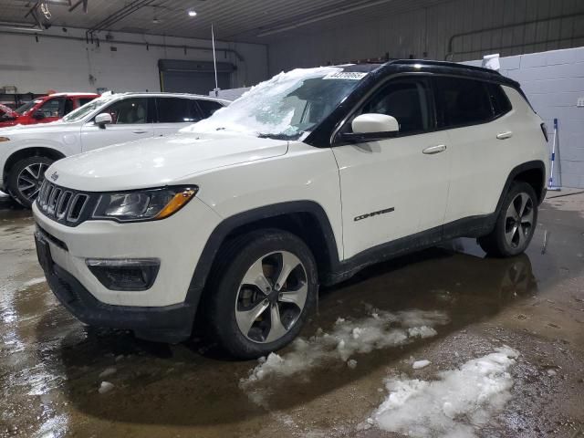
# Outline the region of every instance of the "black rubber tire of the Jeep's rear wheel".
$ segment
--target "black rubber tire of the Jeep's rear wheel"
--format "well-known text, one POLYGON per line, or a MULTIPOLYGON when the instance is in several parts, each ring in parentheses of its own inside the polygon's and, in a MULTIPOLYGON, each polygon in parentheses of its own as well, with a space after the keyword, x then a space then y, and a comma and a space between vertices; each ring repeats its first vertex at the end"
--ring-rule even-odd
POLYGON ((495 257, 510 257, 523 253, 536 230, 537 204, 537 195, 531 185, 522 181, 512 183, 503 200, 501 211, 496 218, 495 228, 490 234, 478 239, 478 243, 485 253, 495 257), (525 214, 519 221, 517 221, 517 218, 507 217, 511 203, 515 203, 514 205, 521 203, 522 198, 518 198, 518 196, 527 196, 527 198, 523 198, 527 199, 525 214), (527 222, 524 221, 527 221, 526 216, 529 215, 529 209, 531 209, 531 216, 529 218, 530 224, 527 226, 527 222), (516 224, 520 225, 518 230, 513 232, 516 224), (511 241, 507 236, 513 237, 511 241))

